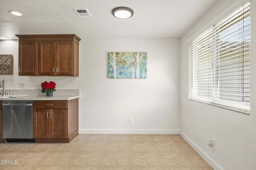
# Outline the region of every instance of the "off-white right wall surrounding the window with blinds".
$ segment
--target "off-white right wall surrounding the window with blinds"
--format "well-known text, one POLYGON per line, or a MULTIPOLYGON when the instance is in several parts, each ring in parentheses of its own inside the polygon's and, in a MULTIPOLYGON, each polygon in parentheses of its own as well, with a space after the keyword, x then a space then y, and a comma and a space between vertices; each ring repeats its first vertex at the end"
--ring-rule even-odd
POLYGON ((180 40, 180 133, 214 169, 254 170, 256 147, 256 0, 251 0, 251 115, 188 100, 188 40, 202 33, 242 0, 218 1, 180 40), (215 142, 215 152, 208 147, 215 142))

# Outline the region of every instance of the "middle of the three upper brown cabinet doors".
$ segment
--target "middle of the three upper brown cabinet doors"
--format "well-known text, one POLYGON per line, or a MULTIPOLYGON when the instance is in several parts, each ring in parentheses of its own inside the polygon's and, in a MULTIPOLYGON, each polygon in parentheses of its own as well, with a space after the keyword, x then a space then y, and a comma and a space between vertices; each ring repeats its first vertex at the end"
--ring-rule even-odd
POLYGON ((56 42, 39 42, 39 75, 56 75, 56 42))

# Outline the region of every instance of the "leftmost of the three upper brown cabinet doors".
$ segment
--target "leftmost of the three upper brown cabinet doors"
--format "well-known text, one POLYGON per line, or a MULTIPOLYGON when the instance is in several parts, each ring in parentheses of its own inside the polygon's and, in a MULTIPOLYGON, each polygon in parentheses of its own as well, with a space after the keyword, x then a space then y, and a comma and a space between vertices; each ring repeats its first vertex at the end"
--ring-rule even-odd
POLYGON ((38 75, 38 42, 19 42, 19 75, 38 75))

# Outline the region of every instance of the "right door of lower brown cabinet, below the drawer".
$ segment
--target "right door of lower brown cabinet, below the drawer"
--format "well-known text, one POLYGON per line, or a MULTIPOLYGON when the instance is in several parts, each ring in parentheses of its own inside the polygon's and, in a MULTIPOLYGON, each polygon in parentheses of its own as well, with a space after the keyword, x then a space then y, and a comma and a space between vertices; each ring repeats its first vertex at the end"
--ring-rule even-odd
POLYGON ((50 109, 50 138, 67 138, 67 109, 50 109))

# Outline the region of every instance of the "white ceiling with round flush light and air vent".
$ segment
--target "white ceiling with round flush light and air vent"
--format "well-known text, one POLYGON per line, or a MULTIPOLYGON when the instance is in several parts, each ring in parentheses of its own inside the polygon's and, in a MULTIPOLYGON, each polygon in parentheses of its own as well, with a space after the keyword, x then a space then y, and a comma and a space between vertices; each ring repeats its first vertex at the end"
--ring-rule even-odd
POLYGON ((76 34, 80 38, 180 38, 218 0, 0 0, 0 36, 76 34), (111 10, 126 6, 132 18, 115 18, 111 10), (78 17, 73 8, 88 8, 78 17), (13 16, 9 10, 25 16, 13 16))

